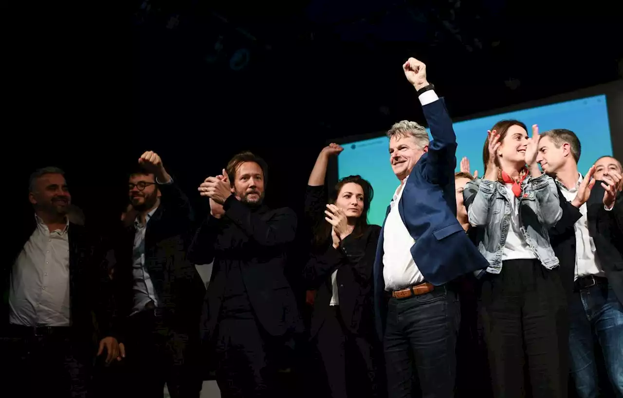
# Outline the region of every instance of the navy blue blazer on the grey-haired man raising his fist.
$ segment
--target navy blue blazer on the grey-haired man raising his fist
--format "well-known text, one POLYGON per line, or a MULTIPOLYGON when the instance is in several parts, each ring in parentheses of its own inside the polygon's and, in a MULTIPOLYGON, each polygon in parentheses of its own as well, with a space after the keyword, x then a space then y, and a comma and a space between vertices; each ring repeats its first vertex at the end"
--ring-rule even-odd
MULTIPOLYGON (((443 285, 460 275, 485 269, 488 262, 468 239, 457 221, 454 169, 456 136, 443 99, 422 106, 433 141, 411 170, 398 209, 415 243, 411 256, 422 275, 433 285, 443 285)), ((388 207, 389 213, 389 207, 388 207)), ((374 262, 374 303, 377 330, 382 336, 386 298, 383 280, 383 231, 374 262)))

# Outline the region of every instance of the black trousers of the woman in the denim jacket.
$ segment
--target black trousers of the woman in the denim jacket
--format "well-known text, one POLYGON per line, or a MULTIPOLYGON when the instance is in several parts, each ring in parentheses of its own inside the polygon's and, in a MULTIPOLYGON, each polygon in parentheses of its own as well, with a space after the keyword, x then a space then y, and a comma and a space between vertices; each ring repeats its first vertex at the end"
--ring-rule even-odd
POLYGON ((484 278, 480 315, 493 395, 566 398, 569 320, 558 268, 507 260, 500 274, 484 278))

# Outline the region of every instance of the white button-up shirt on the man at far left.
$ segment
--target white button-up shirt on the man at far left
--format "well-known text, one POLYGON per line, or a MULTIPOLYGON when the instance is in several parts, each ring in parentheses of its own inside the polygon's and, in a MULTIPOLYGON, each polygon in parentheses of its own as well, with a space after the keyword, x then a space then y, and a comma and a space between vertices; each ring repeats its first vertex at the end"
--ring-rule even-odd
POLYGON ((69 221, 50 232, 37 228, 13 264, 9 322, 22 326, 69 326, 69 221))

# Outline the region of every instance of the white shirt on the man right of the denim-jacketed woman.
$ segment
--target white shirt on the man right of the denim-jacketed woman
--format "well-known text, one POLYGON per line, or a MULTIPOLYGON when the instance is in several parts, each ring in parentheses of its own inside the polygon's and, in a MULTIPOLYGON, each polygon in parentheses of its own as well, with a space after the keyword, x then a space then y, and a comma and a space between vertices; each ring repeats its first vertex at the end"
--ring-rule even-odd
MULTIPOLYGON (((578 193, 578 188, 582 183, 582 175, 578 174, 578 182, 576 186, 571 189, 567 189, 563 183, 558 181, 558 186, 560 190, 563 192, 563 196, 568 201, 573 201, 578 193)), ((588 218, 586 216, 586 203, 584 203, 579 208, 581 217, 576 223, 573 225, 573 229, 576 233, 576 275, 575 279, 578 277, 583 277, 587 275, 594 276, 606 276, 604 274, 604 269, 599 264, 599 259, 597 258, 595 243, 592 240, 592 237, 588 231, 588 218)))

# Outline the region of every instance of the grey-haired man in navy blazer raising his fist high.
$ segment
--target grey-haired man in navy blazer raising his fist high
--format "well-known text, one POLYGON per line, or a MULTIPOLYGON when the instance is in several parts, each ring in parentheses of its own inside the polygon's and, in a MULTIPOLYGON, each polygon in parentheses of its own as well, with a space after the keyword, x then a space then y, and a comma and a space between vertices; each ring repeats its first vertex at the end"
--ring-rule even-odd
POLYGON ((450 282, 487 261, 457 221, 456 136, 443 99, 415 58, 402 65, 426 121, 388 131, 389 158, 400 180, 388 207, 374 261, 376 323, 383 340, 389 398, 454 395, 458 297, 450 282), (419 381, 419 382, 414 382, 419 381), (420 395, 417 394, 416 395, 420 395))

